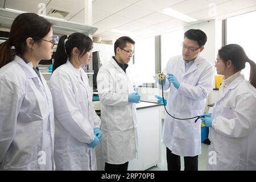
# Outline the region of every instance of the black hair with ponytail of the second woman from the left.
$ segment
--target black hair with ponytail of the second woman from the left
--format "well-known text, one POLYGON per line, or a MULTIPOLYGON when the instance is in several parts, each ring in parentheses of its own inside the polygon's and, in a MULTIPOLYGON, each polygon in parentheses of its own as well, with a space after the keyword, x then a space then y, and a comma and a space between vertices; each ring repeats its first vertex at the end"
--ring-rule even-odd
POLYGON ((55 71, 55 69, 57 69, 60 65, 65 64, 68 59, 71 59, 72 50, 75 47, 79 49, 79 57, 81 57, 93 48, 92 39, 90 39, 89 36, 79 32, 73 33, 69 36, 61 36, 55 53, 52 71, 55 71))

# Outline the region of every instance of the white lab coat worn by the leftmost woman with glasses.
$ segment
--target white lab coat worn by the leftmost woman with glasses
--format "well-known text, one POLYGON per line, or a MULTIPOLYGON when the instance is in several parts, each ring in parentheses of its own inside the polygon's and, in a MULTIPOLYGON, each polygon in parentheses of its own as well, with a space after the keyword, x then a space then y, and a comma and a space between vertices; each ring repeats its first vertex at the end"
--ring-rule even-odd
POLYGON ((0 69, 1 170, 54 170, 52 96, 19 56, 0 69))

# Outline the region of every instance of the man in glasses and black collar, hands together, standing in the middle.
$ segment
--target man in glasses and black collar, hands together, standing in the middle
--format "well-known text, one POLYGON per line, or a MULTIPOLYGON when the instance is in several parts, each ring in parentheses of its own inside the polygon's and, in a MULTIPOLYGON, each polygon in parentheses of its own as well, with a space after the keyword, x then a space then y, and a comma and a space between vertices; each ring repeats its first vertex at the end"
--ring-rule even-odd
POLYGON ((98 71, 101 101, 102 155, 105 171, 127 171, 136 157, 136 105, 140 96, 133 90, 128 63, 134 55, 134 40, 122 36, 114 43, 115 56, 98 71))

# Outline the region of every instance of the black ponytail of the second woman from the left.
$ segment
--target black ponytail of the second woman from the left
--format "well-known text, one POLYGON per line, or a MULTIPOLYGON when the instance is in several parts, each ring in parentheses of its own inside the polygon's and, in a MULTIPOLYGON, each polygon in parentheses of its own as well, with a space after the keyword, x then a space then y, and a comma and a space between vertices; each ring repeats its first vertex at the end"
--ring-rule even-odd
POLYGON ((52 72, 54 72, 55 69, 57 69, 61 65, 65 64, 68 60, 68 53, 65 48, 67 40, 68 40, 67 38, 68 38, 67 35, 63 35, 59 39, 59 43, 58 43, 55 57, 54 57, 52 72))

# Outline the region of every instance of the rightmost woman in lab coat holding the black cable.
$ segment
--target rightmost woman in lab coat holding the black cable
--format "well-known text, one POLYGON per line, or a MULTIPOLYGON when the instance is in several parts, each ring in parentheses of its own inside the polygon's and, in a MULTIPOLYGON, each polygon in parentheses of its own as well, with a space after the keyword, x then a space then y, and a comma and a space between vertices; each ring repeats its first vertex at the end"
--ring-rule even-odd
POLYGON ((237 44, 218 51, 215 67, 224 75, 220 98, 203 114, 210 127, 208 170, 256 170, 256 65, 237 44), (241 70, 250 64, 250 80, 241 70))

